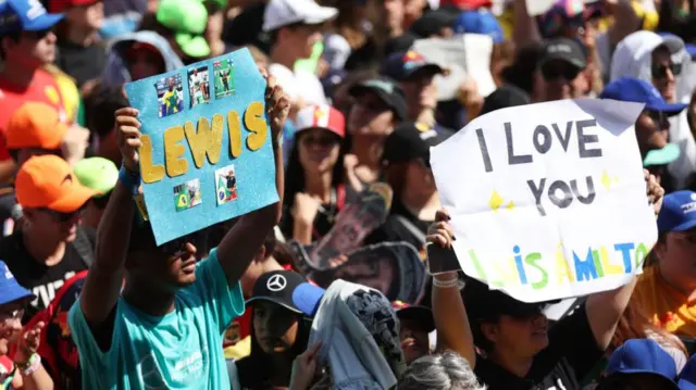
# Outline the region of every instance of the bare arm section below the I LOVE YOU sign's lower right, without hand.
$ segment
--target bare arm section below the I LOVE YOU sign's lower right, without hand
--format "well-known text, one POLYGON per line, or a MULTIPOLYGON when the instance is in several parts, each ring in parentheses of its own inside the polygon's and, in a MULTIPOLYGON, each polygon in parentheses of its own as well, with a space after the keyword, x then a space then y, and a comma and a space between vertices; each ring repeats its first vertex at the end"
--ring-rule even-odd
POLYGON ((618 289, 598 292, 587 298, 586 311, 587 322, 597 341, 597 347, 606 350, 611 342, 619 318, 623 315, 637 278, 633 278, 629 284, 618 289))

